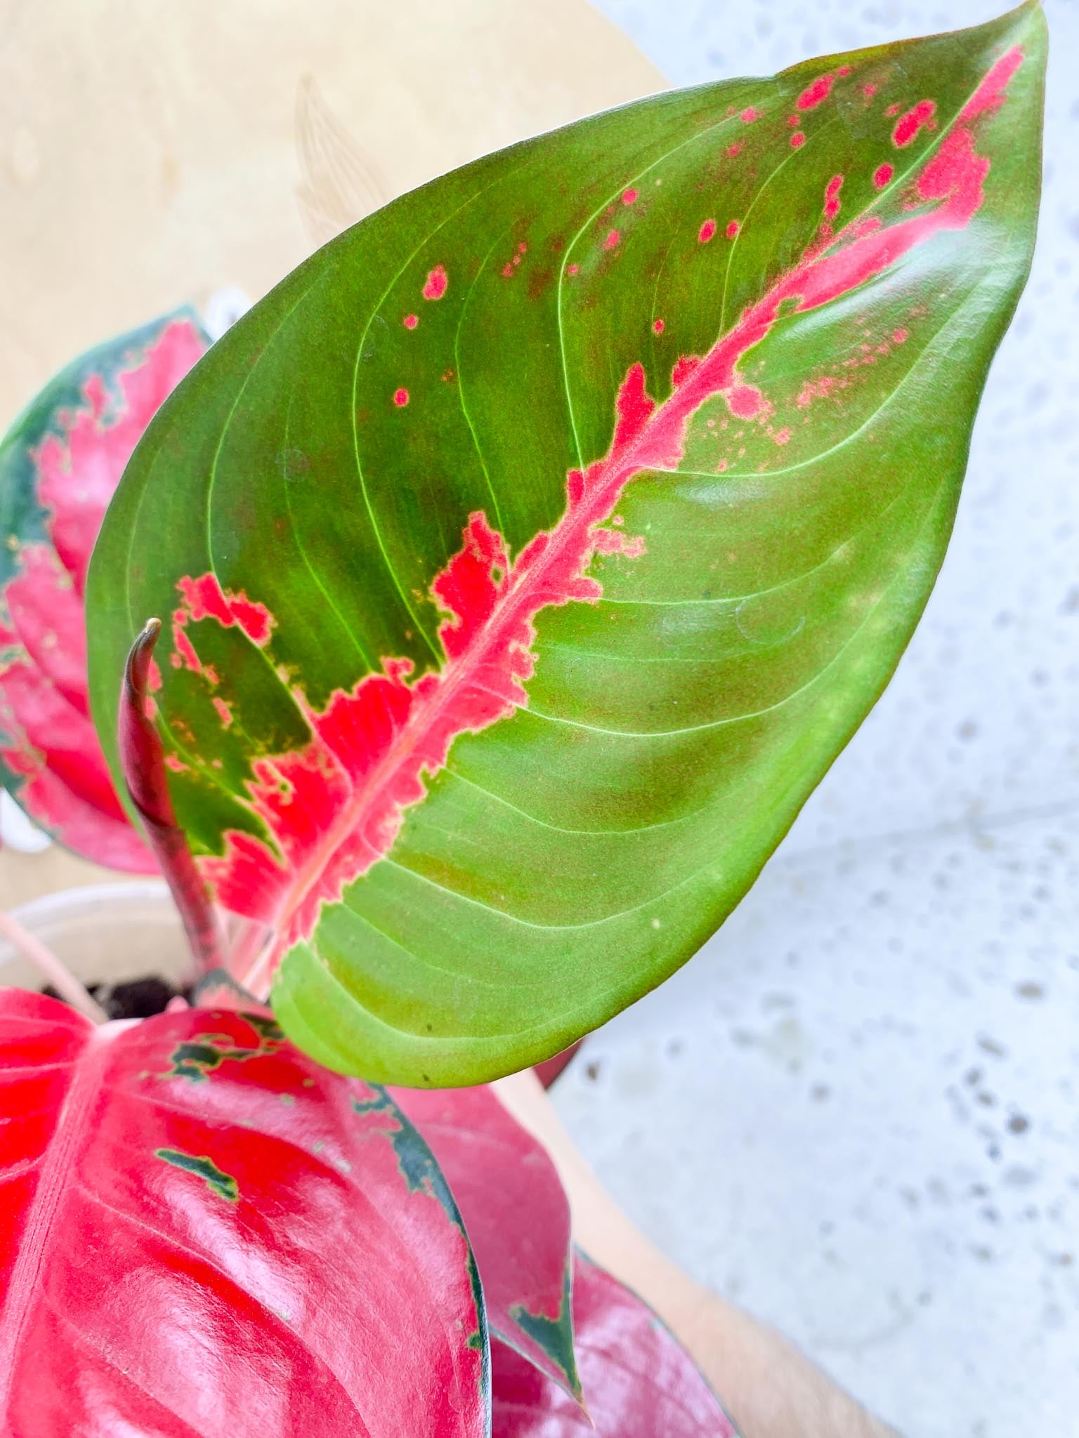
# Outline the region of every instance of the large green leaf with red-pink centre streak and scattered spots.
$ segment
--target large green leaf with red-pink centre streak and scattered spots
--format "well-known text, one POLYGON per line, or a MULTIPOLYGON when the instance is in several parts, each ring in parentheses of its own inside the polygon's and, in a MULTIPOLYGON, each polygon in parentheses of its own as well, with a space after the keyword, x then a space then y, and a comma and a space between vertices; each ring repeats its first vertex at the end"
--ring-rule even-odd
POLYGON ((745 893, 941 564, 1043 60, 1023 6, 491 155, 165 404, 95 554, 95 712, 171 613, 177 815, 324 1063, 532 1063, 745 893))

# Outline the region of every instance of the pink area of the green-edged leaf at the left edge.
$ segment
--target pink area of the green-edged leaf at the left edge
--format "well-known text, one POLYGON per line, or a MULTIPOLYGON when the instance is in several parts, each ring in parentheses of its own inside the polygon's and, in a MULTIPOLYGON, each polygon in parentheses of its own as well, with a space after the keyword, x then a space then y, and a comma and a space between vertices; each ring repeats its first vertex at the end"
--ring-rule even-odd
POLYGON ((135 444, 203 349, 196 326, 177 319, 118 372, 114 395, 101 375, 86 380, 83 403, 30 456, 47 542, 17 551, 0 592, 0 759, 23 777, 19 802, 69 848, 132 873, 157 866, 124 814, 89 718, 86 569, 135 444))

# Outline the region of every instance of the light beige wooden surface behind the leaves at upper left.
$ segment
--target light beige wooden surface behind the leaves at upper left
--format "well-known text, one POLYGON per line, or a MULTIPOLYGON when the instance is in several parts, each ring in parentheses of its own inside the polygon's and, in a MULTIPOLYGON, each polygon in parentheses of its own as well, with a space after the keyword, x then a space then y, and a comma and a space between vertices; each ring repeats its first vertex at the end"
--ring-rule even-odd
POLYGON ((662 88, 584 0, 0 0, 0 424, 88 345, 662 88))

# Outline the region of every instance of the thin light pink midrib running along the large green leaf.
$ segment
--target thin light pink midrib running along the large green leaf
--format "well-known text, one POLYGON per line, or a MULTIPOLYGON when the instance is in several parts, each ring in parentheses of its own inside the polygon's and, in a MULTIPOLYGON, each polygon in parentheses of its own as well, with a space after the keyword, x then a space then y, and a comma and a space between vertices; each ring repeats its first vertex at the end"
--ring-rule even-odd
MULTIPOLYGON (((948 125, 947 132, 941 135, 941 142, 944 142, 947 135, 955 132, 957 125, 961 125, 968 119, 974 119, 977 114, 981 112, 981 108, 985 108, 984 102, 981 106, 978 105, 981 89, 991 82, 993 75, 997 73, 1001 66, 1007 65, 1007 60, 1013 56, 1013 69, 1021 62, 1021 50, 1019 47, 1009 52, 1009 56, 997 60, 987 76, 983 78, 981 86, 975 91, 975 95, 958 112, 955 121, 948 125)), ((1000 91, 1001 95, 1010 78, 1011 72, 1009 70, 1000 91)), ((922 157, 922 174, 925 174, 928 164, 929 157, 922 157)), ((869 209, 872 209, 876 201, 870 201, 869 209)), ((947 211, 947 200, 941 200, 938 204, 941 216, 947 211)), ((938 211, 934 211, 934 214, 938 211)), ((817 253, 813 253, 810 257, 803 257, 798 265, 781 275, 765 292, 765 295, 742 313, 738 324, 716 339, 708 354, 682 381, 682 384, 673 388, 670 395, 662 404, 656 406, 634 437, 622 450, 616 450, 613 444, 611 452, 606 459, 597 462, 586 470, 587 487, 581 495, 581 499, 575 503, 570 502, 567 505, 563 519, 560 519, 554 529, 550 531, 550 539, 541 558, 529 567, 524 578, 518 578, 516 582, 512 582, 511 578, 509 588, 495 604, 492 614, 486 620, 468 654, 449 660, 446 667, 440 672, 439 684, 432 692, 430 697, 426 700, 417 700, 413 705, 404 728, 390 743, 386 756, 374 768, 370 778, 357 792, 354 800, 342 810, 337 823, 327 831, 325 840, 319 846, 318 851, 308 860, 304 869, 298 873, 296 880, 282 896, 275 916, 270 920, 278 933, 283 932, 288 935, 292 916, 311 894, 311 890, 318 883, 319 876, 324 873, 338 846, 342 844, 350 834, 352 834, 352 831, 363 824, 365 817, 368 817, 368 811, 375 795, 381 794, 381 791, 413 758, 417 741, 433 726, 433 722, 445 715, 447 707, 452 706, 456 695, 470 682, 472 673, 481 667, 485 656, 491 650, 498 649, 498 646, 506 638, 508 633, 512 633, 512 630, 521 624, 522 620, 531 621, 534 615, 545 607, 542 604, 537 604, 531 598, 531 595, 542 590, 544 577, 561 567, 560 561, 565 559, 567 552, 571 552, 573 546, 577 546, 581 554, 587 551, 587 531, 594 525, 603 523, 611 515, 622 490, 637 473, 646 469, 668 467, 670 463, 669 456, 672 446, 676 446, 680 452, 682 427, 689 416, 699 408, 705 400, 734 385, 735 364, 747 349, 750 349, 754 344, 758 344, 771 329, 780 303, 784 299, 798 295, 798 285, 816 265, 826 262, 829 256, 834 257, 837 253, 842 253, 849 243, 856 242, 860 237, 857 233, 859 227, 865 226, 865 223, 863 211, 839 230, 839 233, 817 253), (847 243, 844 244, 844 242, 847 243), (666 463, 662 462, 665 456, 668 457, 666 463)), ((909 221, 901 220, 896 226, 888 226, 885 229, 895 229, 899 232, 906 224, 909 224, 909 221)), ((921 239, 928 237, 931 233, 934 233, 934 230, 932 227, 928 227, 925 234, 912 239, 911 243, 921 243, 921 239)), ((886 259, 876 270, 869 270, 860 278, 856 276, 853 285, 847 285, 842 293, 849 292, 850 288, 856 288, 856 285, 862 283, 865 279, 873 278, 876 273, 888 269, 895 259, 901 257, 903 252, 905 249, 901 249, 898 255, 886 259)), ((817 301, 817 303, 827 302, 833 298, 837 298, 837 295, 826 295, 824 301, 817 301)), ((803 306, 798 305, 797 308, 801 309, 803 306)), ((511 568, 511 577, 515 568, 516 567, 511 568)), ((378 853, 373 846, 368 844, 368 847, 373 850, 371 863, 386 857, 384 853, 378 853)), ((360 877, 360 874, 357 874, 357 877, 360 877)), ((256 969, 262 971, 265 965, 273 966, 283 949, 291 946, 292 942, 295 942, 295 936, 285 940, 279 939, 276 945, 263 953, 262 962, 256 965, 256 969)), ((252 979, 255 979, 255 974, 247 975, 249 984, 252 979)))

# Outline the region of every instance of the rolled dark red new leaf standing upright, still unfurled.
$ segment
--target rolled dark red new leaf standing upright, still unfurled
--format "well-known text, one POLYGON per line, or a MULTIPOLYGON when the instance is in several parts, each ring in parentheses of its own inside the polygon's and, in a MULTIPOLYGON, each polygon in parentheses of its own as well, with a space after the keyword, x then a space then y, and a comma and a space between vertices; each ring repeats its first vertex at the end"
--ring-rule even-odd
POLYGON ((206 883, 196 869, 187 835, 176 821, 173 801, 168 797, 165 751, 148 712, 155 707, 150 697, 150 673, 160 631, 161 621, 148 620, 124 664, 119 756, 128 795, 142 820, 161 873, 168 880, 191 952, 206 974, 222 968, 223 961, 217 915, 210 903, 206 883))

